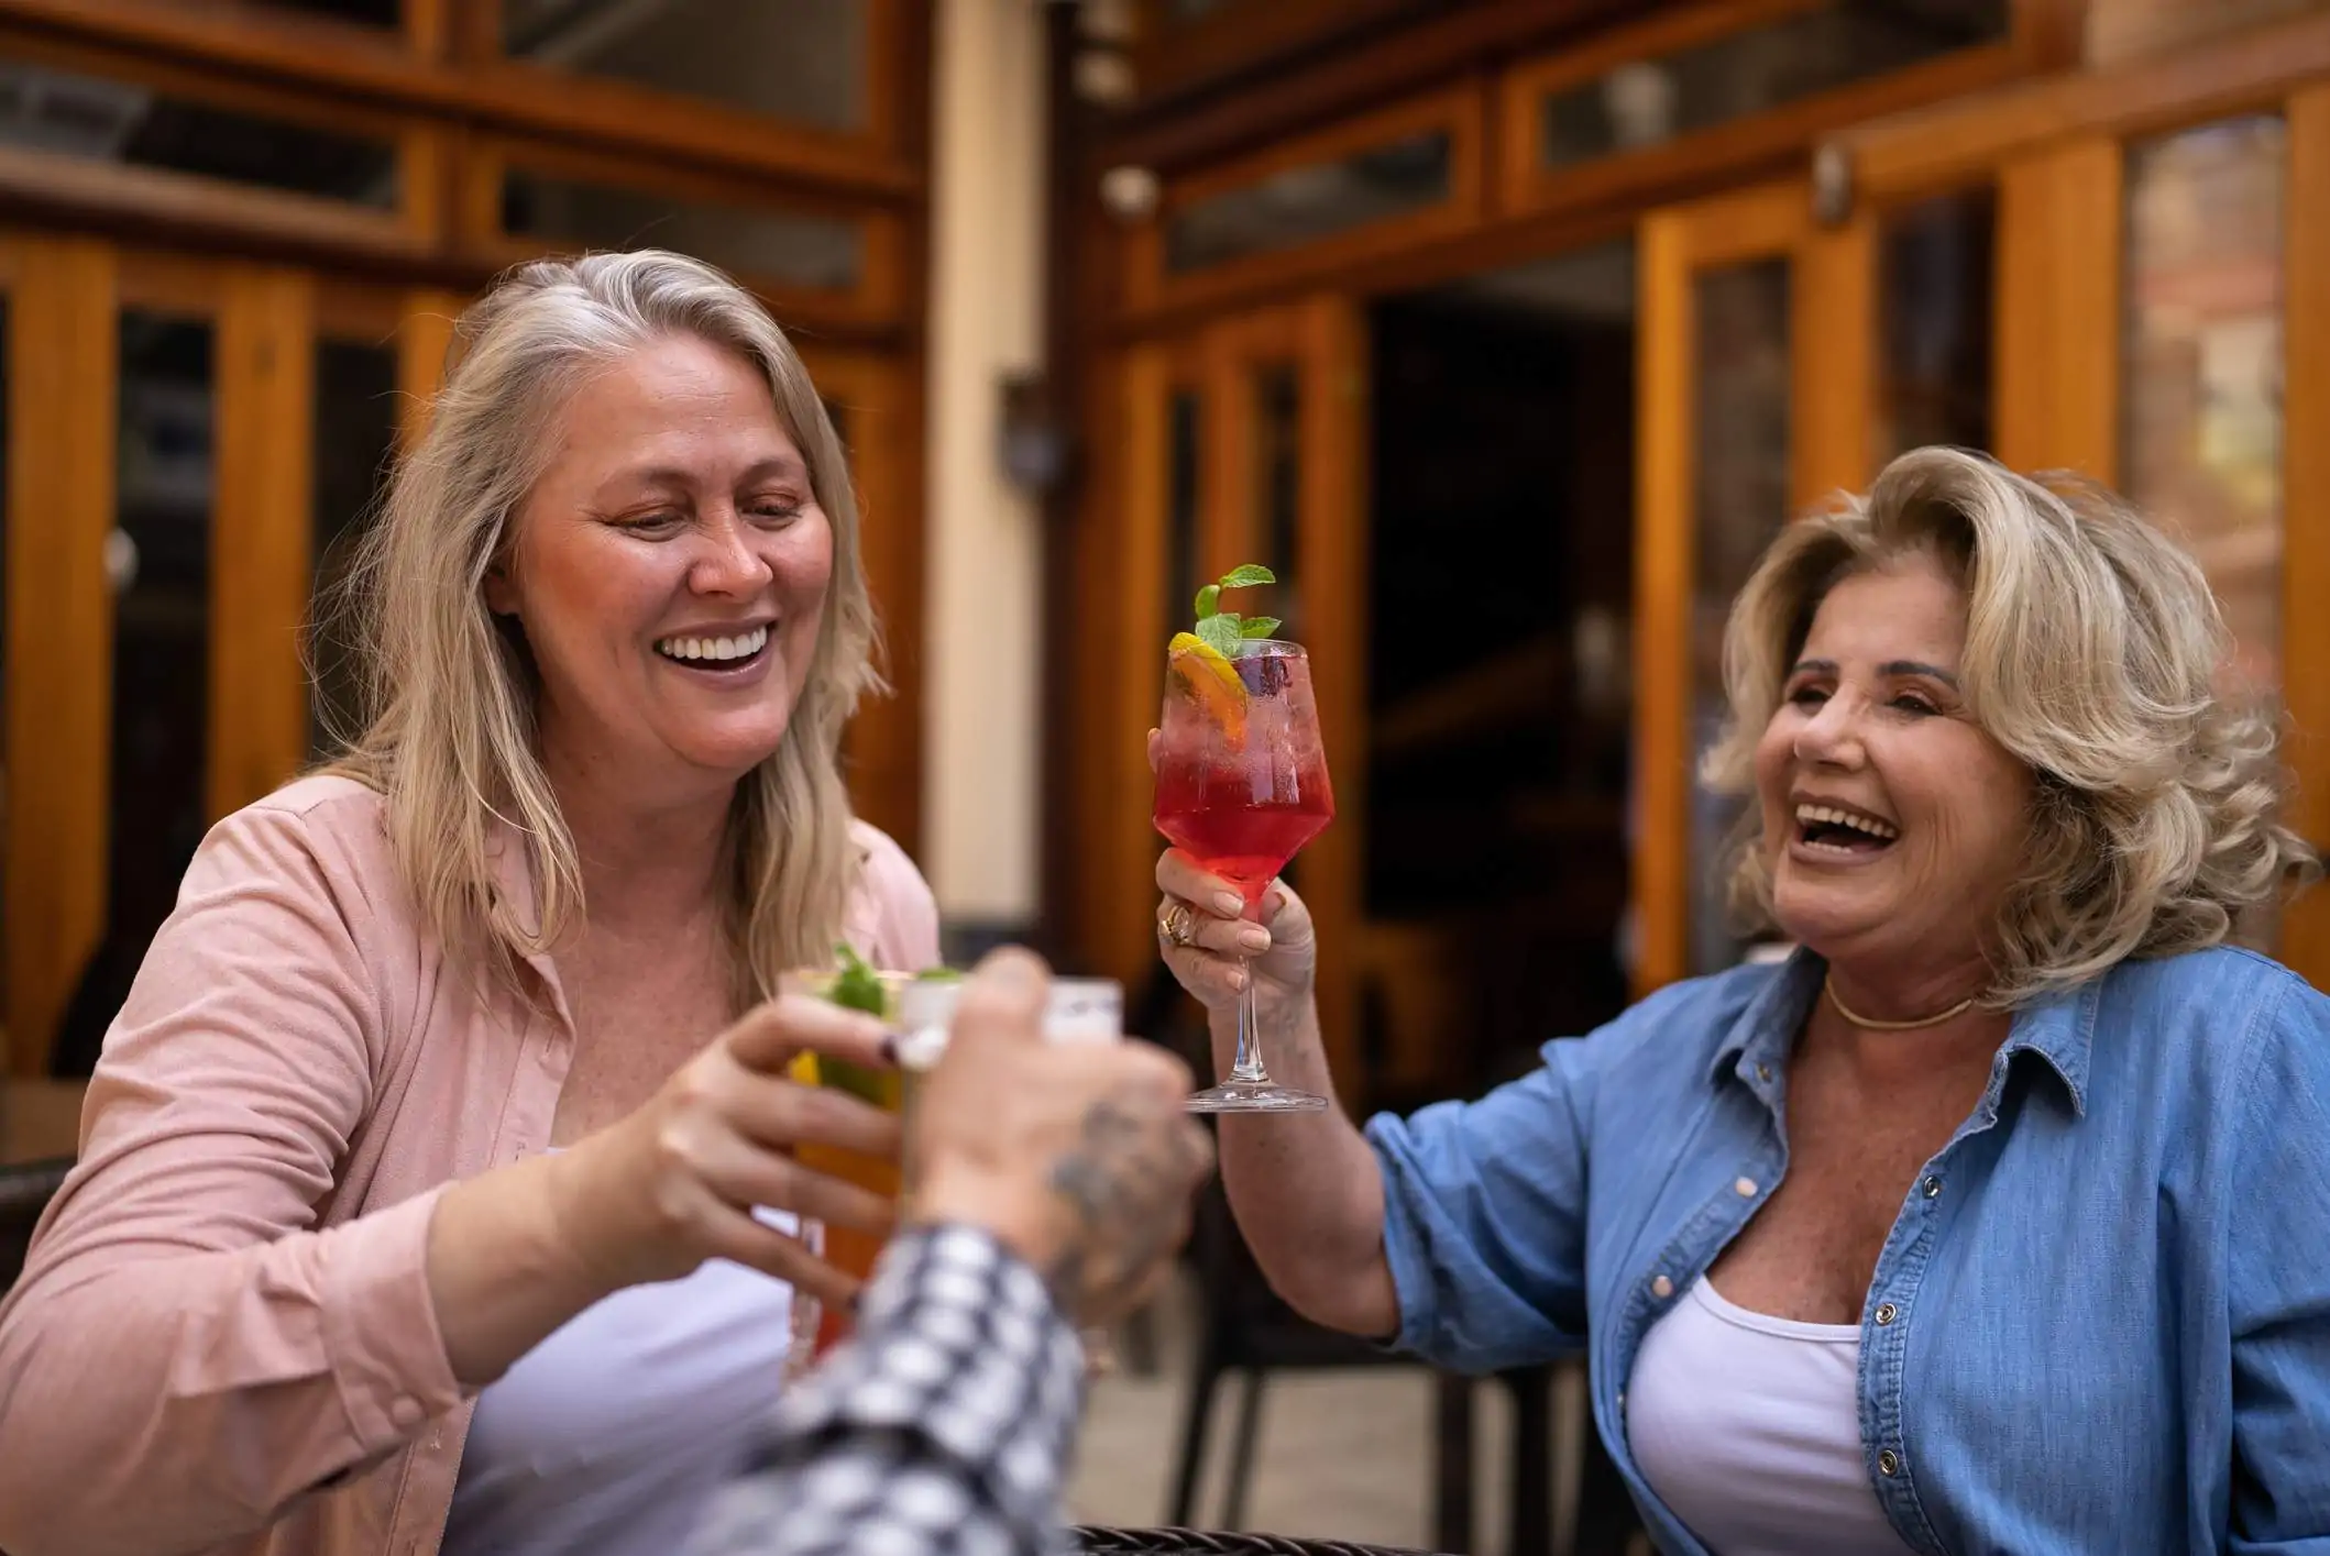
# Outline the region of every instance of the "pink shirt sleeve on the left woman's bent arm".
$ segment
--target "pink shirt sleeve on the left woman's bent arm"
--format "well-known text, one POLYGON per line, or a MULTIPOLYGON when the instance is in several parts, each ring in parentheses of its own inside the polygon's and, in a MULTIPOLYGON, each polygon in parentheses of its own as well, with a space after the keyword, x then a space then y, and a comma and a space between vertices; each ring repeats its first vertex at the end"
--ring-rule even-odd
POLYGON ((242 811, 147 953, 0 1309, 14 1556, 217 1544, 461 1402, 436 1195, 317 1230, 382 1051, 345 885, 301 813, 242 811))

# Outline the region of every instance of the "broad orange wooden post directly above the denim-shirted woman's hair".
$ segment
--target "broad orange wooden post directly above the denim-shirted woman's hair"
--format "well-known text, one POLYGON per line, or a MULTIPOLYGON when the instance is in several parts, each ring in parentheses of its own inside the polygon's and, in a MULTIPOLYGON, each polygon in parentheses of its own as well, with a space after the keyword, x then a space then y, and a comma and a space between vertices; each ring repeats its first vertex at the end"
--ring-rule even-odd
POLYGON ((2104 135, 1999 172, 1997 454, 2116 482, 2120 144, 2104 135))

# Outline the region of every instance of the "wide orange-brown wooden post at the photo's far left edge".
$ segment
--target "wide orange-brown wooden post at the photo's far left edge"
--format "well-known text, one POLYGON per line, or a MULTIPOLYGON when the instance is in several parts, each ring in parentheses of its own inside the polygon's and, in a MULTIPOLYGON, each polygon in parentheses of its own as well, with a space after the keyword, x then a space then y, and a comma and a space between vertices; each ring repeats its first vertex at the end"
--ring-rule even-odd
POLYGON ((33 1076, 105 932, 119 352, 107 245, 9 247, 7 1032, 33 1076))

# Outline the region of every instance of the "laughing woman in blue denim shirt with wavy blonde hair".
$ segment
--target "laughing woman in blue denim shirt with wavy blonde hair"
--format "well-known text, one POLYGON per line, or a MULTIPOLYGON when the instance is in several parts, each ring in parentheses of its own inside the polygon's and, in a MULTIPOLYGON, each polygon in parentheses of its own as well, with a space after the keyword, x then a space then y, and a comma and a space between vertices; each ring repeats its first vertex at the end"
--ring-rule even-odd
MULTIPOLYGON (((2330 1551, 2330 999, 2227 946, 2314 857, 2225 650, 2097 489, 1920 450, 1792 524, 1708 780, 1794 957, 1365 1134, 1226 1116, 1272 1283, 1449 1367, 1587 1349, 1661 1551, 2330 1551)), ((1261 953, 1326 1090, 1300 899, 1158 883, 1216 1048, 1261 953)))

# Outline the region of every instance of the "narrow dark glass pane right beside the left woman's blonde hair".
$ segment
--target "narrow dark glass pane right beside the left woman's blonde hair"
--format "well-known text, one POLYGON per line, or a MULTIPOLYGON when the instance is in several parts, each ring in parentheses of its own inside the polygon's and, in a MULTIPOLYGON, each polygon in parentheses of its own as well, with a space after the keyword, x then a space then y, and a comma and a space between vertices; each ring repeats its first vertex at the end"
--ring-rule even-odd
MULTIPOLYGON (((315 599, 331 601, 373 522, 396 450, 396 349, 354 340, 315 347, 315 599)), ((308 750, 324 757, 356 734, 359 692, 336 617, 312 636, 308 750)))

